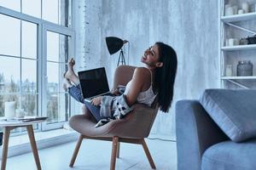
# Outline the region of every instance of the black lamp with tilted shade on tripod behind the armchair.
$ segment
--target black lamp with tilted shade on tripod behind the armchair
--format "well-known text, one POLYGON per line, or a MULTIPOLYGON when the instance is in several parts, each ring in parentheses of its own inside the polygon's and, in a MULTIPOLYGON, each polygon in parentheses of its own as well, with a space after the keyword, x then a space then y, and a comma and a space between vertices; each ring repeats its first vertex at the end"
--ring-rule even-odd
POLYGON ((119 65, 119 63, 121 63, 121 65, 125 65, 125 56, 123 52, 123 46, 126 42, 128 41, 122 40, 119 37, 106 37, 106 43, 107 43, 109 54, 111 55, 115 54, 121 49, 119 53, 119 61, 117 66, 119 65))

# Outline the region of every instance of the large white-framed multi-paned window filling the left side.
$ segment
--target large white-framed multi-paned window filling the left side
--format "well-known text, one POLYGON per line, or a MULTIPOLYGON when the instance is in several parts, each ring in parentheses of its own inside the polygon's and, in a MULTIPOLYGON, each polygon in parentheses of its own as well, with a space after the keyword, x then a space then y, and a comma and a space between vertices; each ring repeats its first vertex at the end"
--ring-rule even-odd
POLYGON ((41 129, 61 127, 70 99, 61 88, 73 55, 70 0, 0 1, 0 116, 15 101, 26 116, 48 116, 41 129))

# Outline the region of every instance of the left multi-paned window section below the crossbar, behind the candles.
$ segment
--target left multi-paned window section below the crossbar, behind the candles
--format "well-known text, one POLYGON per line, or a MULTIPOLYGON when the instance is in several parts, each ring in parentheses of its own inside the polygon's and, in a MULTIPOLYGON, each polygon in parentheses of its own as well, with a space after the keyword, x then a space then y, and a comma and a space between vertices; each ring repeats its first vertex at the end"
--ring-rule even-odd
POLYGON ((0 116, 15 101, 27 116, 38 115, 37 25, 0 14, 0 116))

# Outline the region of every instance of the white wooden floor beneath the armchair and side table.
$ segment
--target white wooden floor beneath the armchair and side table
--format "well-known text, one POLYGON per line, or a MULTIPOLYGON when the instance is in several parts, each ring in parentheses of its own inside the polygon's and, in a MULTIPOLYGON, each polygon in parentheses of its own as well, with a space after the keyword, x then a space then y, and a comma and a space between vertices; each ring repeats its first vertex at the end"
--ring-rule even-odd
MULTIPOLYGON (((146 139, 148 149, 157 169, 176 170, 176 143, 158 139, 146 139)), ((39 150, 39 157, 44 170, 97 170, 109 169, 112 144, 108 141, 83 140, 74 167, 68 167, 76 142, 61 144, 39 150)), ((9 157, 7 170, 36 170, 32 153, 9 157)), ((117 170, 151 169, 143 147, 138 144, 121 144, 120 158, 116 162, 117 170)))

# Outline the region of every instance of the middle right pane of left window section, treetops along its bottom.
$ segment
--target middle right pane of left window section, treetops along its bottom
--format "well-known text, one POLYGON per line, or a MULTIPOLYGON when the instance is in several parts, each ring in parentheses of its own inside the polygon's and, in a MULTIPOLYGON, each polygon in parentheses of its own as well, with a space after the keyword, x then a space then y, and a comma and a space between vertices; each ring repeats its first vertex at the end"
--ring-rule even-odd
POLYGON ((21 60, 21 81, 23 92, 37 93, 37 60, 21 60))

